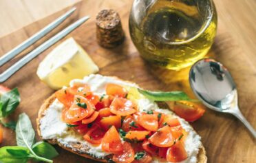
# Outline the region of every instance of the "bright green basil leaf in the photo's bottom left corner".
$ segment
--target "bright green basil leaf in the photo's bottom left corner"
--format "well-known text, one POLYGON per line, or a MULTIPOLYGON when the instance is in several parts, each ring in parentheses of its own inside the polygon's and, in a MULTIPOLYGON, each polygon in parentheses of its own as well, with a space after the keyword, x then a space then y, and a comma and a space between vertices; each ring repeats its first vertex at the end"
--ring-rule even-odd
POLYGON ((0 148, 0 162, 26 163, 30 151, 23 146, 3 146, 0 148))

